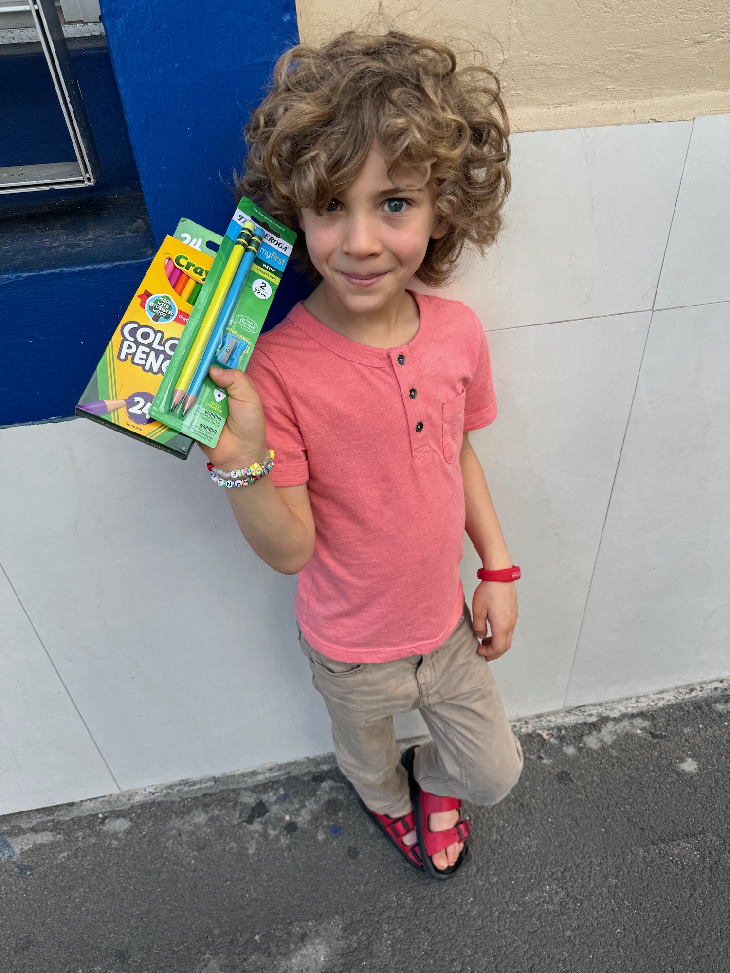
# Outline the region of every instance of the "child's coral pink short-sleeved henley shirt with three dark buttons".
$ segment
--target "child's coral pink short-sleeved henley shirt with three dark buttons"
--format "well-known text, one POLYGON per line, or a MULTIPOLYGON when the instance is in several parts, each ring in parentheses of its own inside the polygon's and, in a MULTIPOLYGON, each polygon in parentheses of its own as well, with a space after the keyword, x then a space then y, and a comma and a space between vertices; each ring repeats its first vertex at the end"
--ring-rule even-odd
POLYGON ((341 662, 441 645, 461 615, 463 430, 493 421, 487 339, 458 301, 412 292, 420 327, 399 348, 352 342, 295 306, 247 374, 264 403, 276 486, 307 484, 314 554, 297 619, 341 662))

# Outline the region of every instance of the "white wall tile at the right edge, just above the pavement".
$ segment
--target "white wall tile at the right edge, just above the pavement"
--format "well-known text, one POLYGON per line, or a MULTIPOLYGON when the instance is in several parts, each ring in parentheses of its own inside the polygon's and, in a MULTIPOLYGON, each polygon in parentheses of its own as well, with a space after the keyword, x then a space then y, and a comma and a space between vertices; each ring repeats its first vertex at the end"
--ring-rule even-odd
POLYGON ((566 703, 730 673, 730 303, 655 311, 566 703))

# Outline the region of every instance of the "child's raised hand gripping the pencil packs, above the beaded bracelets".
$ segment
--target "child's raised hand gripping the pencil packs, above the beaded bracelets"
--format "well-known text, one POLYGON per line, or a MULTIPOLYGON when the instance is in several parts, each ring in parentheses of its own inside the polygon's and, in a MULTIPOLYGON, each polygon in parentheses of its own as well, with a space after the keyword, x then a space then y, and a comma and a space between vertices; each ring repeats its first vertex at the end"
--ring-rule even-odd
POLYGON ((266 452, 266 419, 253 382, 238 369, 211 368, 208 375, 228 392, 228 418, 218 445, 201 444, 201 450, 226 472, 260 463, 266 452))

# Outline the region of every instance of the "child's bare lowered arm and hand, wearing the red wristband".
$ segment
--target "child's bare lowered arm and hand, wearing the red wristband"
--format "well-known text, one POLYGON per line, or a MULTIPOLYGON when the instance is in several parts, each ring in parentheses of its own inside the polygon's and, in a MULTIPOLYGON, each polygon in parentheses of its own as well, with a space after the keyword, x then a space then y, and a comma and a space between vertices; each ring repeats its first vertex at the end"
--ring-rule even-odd
MULTIPOLYGON (((464 433, 461 444, 461 476, 464 482, 466 533, 482 565, 488 571, 511 567, 512 559, 504 543, 502 530, 487 486, 479 457, 464 433)), ((514 582, 482 581, 472 598, 474 631, 483 639, 477 649, 485 659, 498 659, 512 644, 517 623, 517 593, 514 582), (487 637, 487 623, 492 635, 487 637)))

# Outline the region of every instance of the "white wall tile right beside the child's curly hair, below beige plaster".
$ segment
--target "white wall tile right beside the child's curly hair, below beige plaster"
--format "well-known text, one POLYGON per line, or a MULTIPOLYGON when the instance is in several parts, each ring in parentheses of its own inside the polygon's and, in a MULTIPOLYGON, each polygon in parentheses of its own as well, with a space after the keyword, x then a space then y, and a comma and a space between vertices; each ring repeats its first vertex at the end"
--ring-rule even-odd
POLYGON ((692 122, 512 136, 506 226, 446 296, 488 330, 650 310, 692 122))

